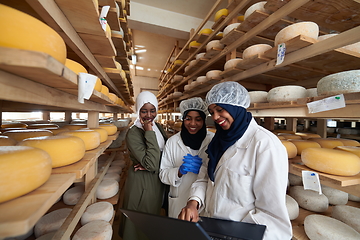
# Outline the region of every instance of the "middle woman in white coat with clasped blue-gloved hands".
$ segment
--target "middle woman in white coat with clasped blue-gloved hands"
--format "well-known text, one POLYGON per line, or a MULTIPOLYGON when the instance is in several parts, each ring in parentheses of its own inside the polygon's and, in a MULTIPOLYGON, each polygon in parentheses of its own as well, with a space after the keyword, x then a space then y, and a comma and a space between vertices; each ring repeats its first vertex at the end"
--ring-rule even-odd
POLYGON ((196 180, 205 153, 214 133, 206 130, 208 115, 203 100, 199 97, 180 103, 183 117, 181 132, 166 142, 161 164, 160 180, 170 185, 168 216, 177 218, 189 198, 191 184, 196 180))

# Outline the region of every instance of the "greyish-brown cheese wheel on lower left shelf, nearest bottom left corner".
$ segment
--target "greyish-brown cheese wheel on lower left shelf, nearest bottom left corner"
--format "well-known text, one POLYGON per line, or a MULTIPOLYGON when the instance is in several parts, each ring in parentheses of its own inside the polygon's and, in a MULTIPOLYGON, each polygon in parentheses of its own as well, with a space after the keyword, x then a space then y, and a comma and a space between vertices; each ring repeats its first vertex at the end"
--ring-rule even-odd
POLYGON ((71 208, 60 208, 42 216, 35 224, 35 237, 40 237, 46 233, 57 231, 65 222, 71 210, 71 208))

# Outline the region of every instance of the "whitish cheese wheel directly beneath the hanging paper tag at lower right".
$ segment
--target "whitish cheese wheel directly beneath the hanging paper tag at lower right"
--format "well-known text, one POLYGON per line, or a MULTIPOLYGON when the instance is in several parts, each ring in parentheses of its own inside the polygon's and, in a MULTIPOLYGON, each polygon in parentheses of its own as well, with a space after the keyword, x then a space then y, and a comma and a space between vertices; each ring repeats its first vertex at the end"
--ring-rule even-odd
POLYGON ((305 190, 303 186, 290 187, 289 195, 300 207, 313 212, 325 212, 329 207, 328 198, 313 190, 305 190))

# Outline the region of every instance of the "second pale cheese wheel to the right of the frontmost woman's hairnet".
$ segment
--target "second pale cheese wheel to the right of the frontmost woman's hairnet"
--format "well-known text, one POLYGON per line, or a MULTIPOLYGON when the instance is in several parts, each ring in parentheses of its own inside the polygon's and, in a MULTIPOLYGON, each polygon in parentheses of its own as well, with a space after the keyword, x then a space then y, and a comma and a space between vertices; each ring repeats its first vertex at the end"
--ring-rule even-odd
POLYGON ((298 98, 306 97, 306 88, 302 86, 281 86, 270 89, 268 102, 287 102, 296 101, 298 98))

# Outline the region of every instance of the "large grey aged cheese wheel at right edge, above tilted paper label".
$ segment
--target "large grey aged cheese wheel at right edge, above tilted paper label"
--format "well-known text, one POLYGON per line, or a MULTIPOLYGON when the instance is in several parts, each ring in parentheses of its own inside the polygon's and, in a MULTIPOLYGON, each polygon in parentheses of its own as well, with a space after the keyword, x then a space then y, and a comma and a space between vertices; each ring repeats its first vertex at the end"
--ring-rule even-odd
POLYGON ((334 73, 323 77, 317 83, 319 96, 360 92, 360 70, 334 73))

